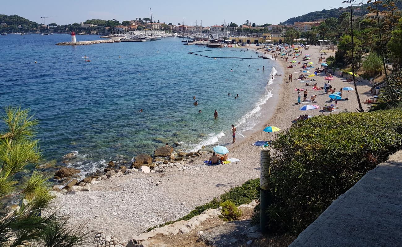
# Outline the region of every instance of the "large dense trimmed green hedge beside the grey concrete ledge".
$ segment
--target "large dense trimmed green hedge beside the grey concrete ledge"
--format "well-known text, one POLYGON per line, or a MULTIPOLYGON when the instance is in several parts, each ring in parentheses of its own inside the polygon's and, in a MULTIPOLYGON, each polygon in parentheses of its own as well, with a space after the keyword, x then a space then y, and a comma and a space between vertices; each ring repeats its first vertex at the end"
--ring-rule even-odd
POLYGON ((298 234, 398 150, 402 109, 314 116, 271 144, 270 229, 298 234))

